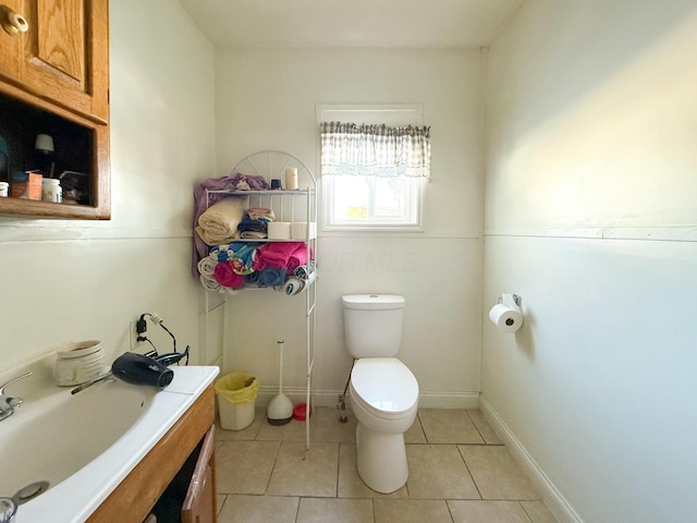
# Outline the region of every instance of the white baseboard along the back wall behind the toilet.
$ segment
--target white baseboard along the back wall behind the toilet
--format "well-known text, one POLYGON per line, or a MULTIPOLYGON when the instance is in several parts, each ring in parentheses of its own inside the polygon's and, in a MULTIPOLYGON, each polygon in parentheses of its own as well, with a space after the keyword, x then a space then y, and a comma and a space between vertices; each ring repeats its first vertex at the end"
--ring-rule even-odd
MULTIPOLYGON (((257 406, 266 408, 276 394, 277 387, 261 386, 257 392, 257 406)), ((283 393, 295 403, 305 402, 305 389, 302 387, 283 387, 283 393)), ((313 402, 316 406, 335 408, 339 394, 343 390, 313 390, 313 402)), ((346 394, 346 405, 351 406, 351 398, 346 394)), ((425 392, 418 397, 420 409, 478 409, 479 392, 425 392)))

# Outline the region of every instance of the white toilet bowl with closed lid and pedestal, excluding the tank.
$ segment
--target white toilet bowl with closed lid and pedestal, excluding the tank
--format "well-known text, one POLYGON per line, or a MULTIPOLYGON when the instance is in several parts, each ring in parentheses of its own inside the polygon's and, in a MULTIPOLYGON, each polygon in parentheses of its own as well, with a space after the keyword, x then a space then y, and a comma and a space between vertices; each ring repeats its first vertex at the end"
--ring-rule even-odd
POLYGON ((418 384, 395 357, 357 360, 351 373, 357 469, 371 489, 390 494, 408 477, 404 433, 416 418, 418 384))

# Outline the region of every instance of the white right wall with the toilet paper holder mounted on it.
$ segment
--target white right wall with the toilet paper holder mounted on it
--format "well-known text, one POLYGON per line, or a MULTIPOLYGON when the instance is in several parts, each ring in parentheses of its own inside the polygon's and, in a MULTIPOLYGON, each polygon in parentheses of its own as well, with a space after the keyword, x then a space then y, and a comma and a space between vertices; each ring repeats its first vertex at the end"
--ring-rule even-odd
POLYGON ((528 0, 489 52, 482 405, 562 521, 697 511, 696 48, 692 0, 528 0))

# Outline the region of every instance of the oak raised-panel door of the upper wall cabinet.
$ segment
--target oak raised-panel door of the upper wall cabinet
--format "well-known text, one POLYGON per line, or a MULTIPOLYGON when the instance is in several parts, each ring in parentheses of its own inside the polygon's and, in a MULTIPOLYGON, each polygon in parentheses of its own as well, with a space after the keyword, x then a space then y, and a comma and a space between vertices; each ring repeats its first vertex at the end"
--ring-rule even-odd
POLYGON ((108 0, 24 0, 25 88, 106 123, 108 9, 108 0))

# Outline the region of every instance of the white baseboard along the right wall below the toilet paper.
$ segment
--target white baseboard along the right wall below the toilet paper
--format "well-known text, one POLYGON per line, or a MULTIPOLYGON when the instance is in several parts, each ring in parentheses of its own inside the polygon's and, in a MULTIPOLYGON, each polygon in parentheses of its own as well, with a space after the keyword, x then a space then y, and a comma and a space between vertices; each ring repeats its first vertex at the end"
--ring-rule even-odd
POLYGON ((568 501, 566 501, 554 484, 549 479, 549 477, 547 477, 545 471, 540 469, 527 449, 515 437, 503 418, 484 396, 479 398, 479 410, 489 422, 489 425, 491 425, 491 428, 493 428, 497 435, 503 440, 509 452, 511 452, 513 458, 521 464, 528 477, 533 481, 537 489, 542 495, 542 499, 547 503, 547 507, 549 507, 559 522, 584 523, 580 515, 578 515, 572 506, 568 504, 568 501))

